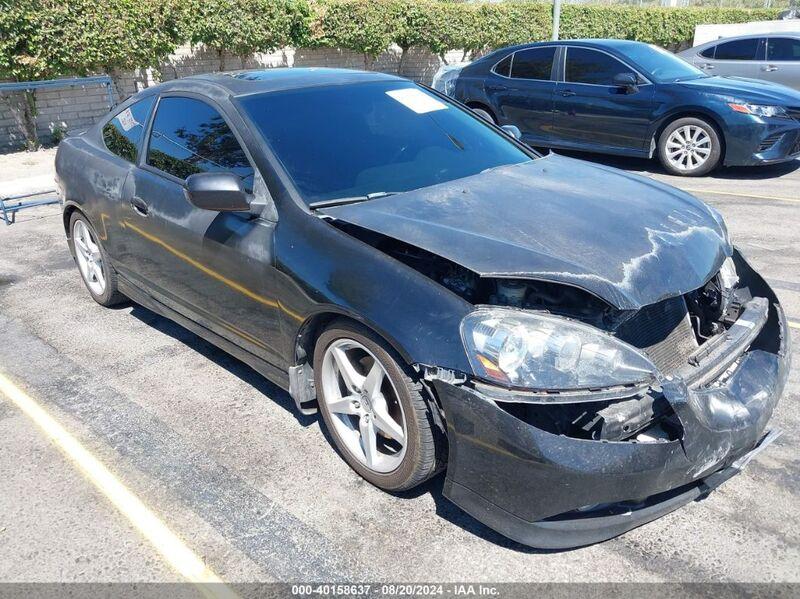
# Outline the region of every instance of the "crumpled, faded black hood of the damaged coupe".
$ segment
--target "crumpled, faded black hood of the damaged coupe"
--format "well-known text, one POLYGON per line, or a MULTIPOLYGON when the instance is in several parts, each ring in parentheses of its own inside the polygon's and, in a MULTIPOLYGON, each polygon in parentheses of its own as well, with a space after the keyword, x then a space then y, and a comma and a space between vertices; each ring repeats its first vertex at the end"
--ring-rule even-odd
POLYGON ((481 276, 574 285, 619 309, 701 287, 732 251, 691 195, 553 154, 323 212, 481 276))

